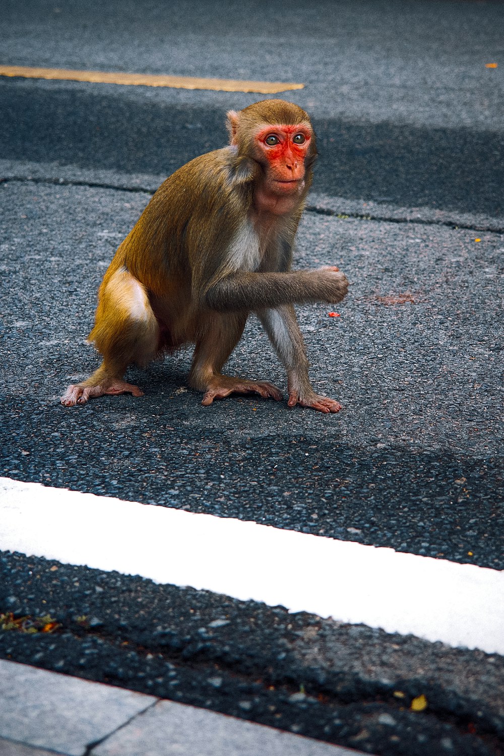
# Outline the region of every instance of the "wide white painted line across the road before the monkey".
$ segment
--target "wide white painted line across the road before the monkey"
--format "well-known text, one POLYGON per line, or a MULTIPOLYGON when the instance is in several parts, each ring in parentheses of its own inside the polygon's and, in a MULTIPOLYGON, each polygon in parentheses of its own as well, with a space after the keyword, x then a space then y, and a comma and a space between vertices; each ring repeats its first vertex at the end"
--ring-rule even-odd
POLYGON ((504 572, 0 478, 0 550, 504 654, 504 572))

